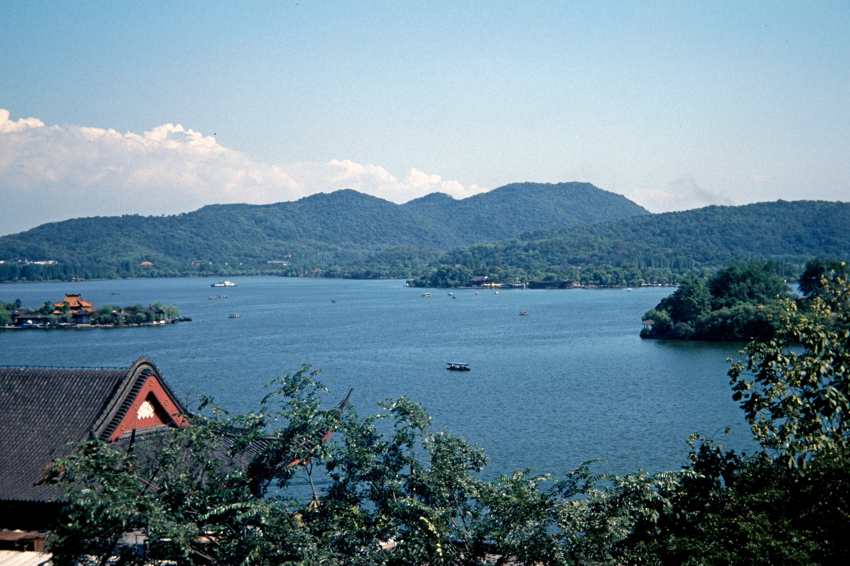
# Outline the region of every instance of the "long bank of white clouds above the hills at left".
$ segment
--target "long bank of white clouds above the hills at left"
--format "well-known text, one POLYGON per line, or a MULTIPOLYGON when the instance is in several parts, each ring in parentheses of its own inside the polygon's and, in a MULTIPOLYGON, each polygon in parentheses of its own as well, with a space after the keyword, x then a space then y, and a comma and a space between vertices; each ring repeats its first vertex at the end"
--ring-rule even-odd
POLYGON ((435 191, 483 192, 411 169, 404 180, 351 160, 269 165, 179 124, 139 135, 8 120, 0 109, 0 234, 77 216, 174 214, 203 205, 269 204, 354 188, 396 203, 435 191))

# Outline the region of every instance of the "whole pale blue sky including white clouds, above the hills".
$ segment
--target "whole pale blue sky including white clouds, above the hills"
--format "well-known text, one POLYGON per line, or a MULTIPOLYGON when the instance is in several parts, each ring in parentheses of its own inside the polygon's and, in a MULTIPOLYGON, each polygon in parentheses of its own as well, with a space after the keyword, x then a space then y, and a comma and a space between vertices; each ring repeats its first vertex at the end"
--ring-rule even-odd
POLYGON ((3 2, 3 20, 0 196, 42 214, 2 233, 347 186, 850 199, 847 2, 3 2), (94 211, 43 216, 62 192, 94 211))

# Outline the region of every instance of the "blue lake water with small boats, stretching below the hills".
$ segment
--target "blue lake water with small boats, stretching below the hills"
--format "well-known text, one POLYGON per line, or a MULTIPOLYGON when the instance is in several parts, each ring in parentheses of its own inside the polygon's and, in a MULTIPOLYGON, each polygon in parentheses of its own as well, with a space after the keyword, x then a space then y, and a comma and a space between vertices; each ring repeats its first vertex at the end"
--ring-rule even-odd
POLYGON ((178 395, 213 395, 238 412, 256 406, 270 378, 307 362, 323 370, 329 402, 353 387, 361 415, 387 397, 421 402, 436 428, 484 447, 488 475, 563 474, 591 458, 615 473, 677 469, 693 432, 753 447, 726 375, 741 345, 638 337, 641 315, 670 288, 458 289, 452 299, 399 280, 233 281, 239 286, 227 289, 191 277, 0 285, 0 300, 32 307, 68 292, 97 306, 161 300, 193 318, 159 328, 0 331, 0 364, 128 366, 144 355, 178 395), (432 296, 420 297, 425 291, 432 296), (207 300, 212 294, 229 296, 207 300), (472 371, 447 372, 445 361, 472 371))

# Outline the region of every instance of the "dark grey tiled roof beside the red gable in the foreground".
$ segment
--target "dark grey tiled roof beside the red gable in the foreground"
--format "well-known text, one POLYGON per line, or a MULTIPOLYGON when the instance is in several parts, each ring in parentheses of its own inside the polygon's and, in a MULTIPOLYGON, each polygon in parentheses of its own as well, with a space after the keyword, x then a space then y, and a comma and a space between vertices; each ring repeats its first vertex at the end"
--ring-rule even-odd
POLYGON ((108 439, 149 377, 185 407, 152 361, 127 369, 0 367, 0 500, 45 502, 55 495, 36 485, 54 457, 95 434, 108 439))

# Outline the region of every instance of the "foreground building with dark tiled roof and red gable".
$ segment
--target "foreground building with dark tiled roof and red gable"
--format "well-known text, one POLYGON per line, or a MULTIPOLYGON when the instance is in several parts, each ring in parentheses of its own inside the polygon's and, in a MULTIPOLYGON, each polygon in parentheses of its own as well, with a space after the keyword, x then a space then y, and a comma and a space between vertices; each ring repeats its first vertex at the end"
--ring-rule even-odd
POLYGON ((49 527, 61 494, 45 468, 89 435, 120 449, 131 436, 181 426, 186 414, 145 358, 122 369, 0 367, 0 528, 49 527))

